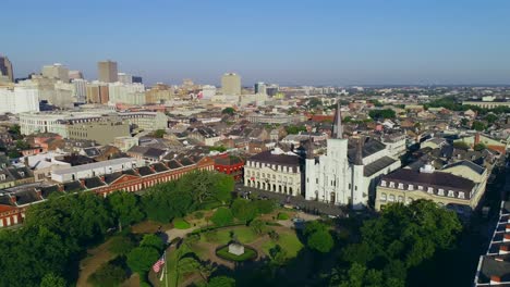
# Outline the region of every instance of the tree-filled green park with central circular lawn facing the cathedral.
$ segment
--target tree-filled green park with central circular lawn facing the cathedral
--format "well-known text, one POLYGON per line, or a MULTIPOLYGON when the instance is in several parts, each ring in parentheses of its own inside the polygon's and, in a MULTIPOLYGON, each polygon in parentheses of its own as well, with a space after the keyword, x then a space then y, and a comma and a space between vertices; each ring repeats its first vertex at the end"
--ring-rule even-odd
POLYGON ((0 270, 7 286, 409 286, 461 272, 461 229, 430 201, 332 219, 204 171, 143 194, 51 196, 0 233, 0 270))

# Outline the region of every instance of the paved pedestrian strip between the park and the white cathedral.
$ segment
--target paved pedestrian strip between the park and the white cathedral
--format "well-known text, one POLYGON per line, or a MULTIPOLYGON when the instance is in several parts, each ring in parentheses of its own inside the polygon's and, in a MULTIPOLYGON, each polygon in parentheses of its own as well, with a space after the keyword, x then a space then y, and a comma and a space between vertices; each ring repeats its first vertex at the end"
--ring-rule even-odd
POLYGON ((236 186, 235 189, 238 194, 251 191, 252 195, 267 197, 270 199, 276 199, 281 204, 290 204, 293 207, 299 208, 300 210, 312 213, 312 214, 326 214, 326 215, 333 215, 333 216, 344 216, 344 213, 338 205, 318 202, 318 201, 311 201, 305 200, 303 197, 288 197, 287 195, 276 194, 267 190, 260 190, 251 187, 244 186, 236 186))

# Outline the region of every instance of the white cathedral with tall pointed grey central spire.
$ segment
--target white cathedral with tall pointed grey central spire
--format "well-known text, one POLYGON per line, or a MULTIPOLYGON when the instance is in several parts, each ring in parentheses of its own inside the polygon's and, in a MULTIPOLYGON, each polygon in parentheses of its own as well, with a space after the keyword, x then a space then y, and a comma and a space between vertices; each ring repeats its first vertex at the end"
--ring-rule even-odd
POLYGON ((309 149, 305 160, 305 198, 363 209, 380 175, 400 167, 400 160, 376 139, 342 137, 340 101, 327 154, 315 158, 309 149))

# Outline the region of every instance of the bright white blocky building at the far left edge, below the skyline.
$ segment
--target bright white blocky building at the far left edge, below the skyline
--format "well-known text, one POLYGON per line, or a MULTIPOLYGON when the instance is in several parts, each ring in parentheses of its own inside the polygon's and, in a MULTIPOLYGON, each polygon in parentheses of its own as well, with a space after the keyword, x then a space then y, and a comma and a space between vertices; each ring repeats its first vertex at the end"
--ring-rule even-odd
POLYGON ((31 87, 0 88, 0 114, 39 111, 39 90, 31 87))

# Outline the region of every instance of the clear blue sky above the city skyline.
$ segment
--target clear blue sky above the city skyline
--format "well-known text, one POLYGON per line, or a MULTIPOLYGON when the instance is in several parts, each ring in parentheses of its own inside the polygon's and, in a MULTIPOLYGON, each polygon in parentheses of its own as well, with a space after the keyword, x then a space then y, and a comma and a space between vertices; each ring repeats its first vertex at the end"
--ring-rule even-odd
POLYGON ((148 84, 510 84, 509 0, 2 0, 17 77, 96 62, 148 84))

